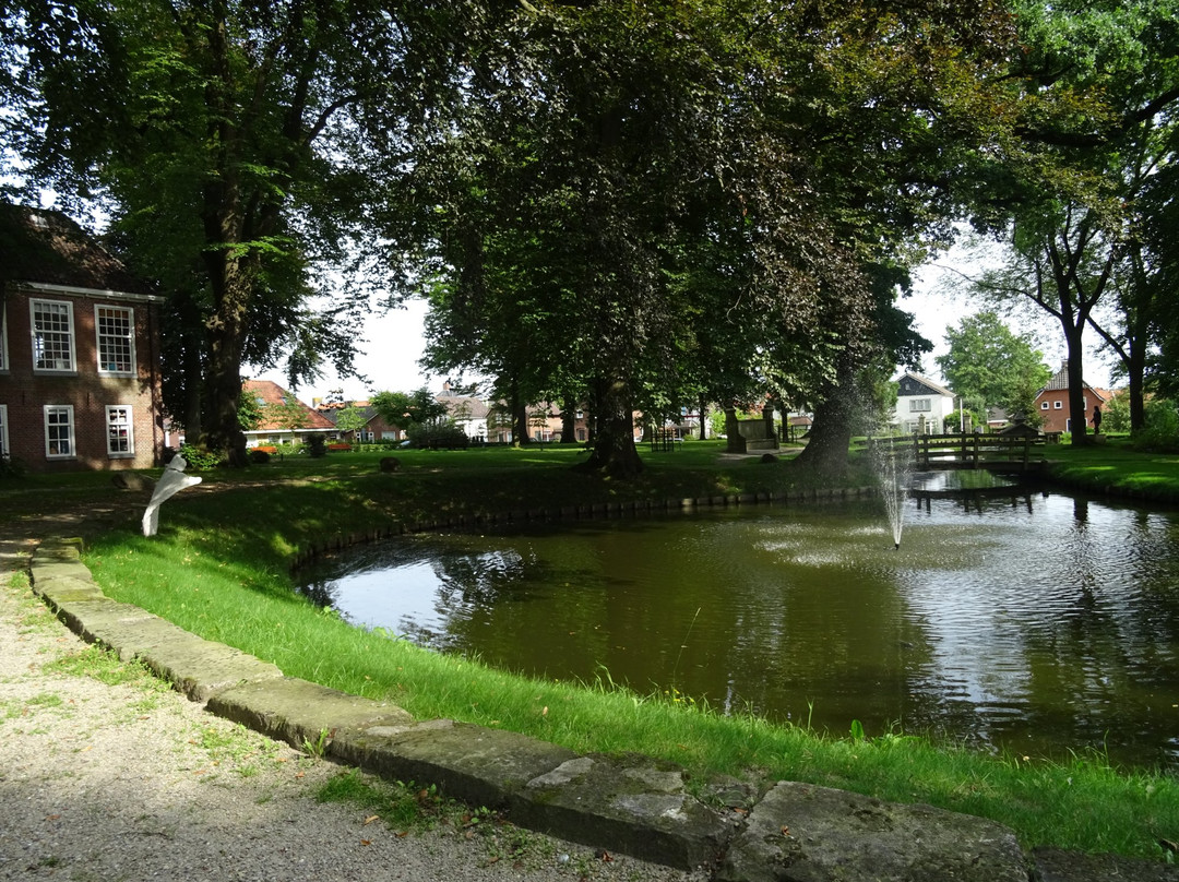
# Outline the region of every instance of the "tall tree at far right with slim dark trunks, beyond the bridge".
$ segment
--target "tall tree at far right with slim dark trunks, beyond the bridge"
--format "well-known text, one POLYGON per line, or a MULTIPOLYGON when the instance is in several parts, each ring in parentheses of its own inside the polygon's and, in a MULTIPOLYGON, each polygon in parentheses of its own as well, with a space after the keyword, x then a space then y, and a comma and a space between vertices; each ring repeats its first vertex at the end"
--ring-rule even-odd
MULTIPOLYGON (((1177 20, 1175 0, 1017 5, 1025 51, 1008 81, 1023 92, 1023 149, 1020 162, 992 167, 976 215, 1008 237, 1012 259, 983 289, 1060 323, 1074 414, 1084 410, 1087 328, 1118 354, 1141 414, 1150 315, 1160 304, 1159 266, 1144 257, 1144 197, 1159 196, 1157 172, 1173 157, 1165 132, 1179 101, 1177 20)), ((1074 427, 1073 442, 1086 443, 1084 423, 1074 427)))

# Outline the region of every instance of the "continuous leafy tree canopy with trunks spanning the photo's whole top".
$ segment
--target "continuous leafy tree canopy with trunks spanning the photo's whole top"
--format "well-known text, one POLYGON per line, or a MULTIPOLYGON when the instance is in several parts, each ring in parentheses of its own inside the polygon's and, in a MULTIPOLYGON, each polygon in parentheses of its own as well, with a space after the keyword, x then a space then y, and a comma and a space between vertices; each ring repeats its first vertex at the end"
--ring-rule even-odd
POLYGON ((963 215, 1078 396, 1086 327, 1132 388, 1174 358, 1175 2, 17 0, 0 162, 111 212, 172 294, 169 407, 233 461, 243 362, 347 373, 367 282, 429 298, 429 366, 492 377, 518 436, 586 402, 590 468, 641 467, 635 410, 766 396, 838 467, 963 215))

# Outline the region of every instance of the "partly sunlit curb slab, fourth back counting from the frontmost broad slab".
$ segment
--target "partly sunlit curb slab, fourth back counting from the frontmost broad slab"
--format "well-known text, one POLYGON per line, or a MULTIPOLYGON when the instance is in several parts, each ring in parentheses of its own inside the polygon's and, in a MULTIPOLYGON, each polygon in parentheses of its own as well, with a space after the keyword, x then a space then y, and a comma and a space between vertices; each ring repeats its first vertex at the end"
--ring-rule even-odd
MULTIPOLYGON (((276 669, 277 670, 277 669, 276 669)), ((340 732, 380 725, 404 725, 411 717, 387 702, 361 698, 296 677, 279 677, 213 692, 208 710, 291 746, 328 750, 340 732)))

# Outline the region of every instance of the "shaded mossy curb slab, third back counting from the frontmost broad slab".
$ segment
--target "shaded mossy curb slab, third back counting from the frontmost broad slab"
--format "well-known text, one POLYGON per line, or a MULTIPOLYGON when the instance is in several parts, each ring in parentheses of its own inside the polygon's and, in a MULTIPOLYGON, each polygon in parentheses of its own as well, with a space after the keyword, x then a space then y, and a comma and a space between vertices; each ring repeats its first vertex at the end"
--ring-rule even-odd
POLYGON ((450 719, 347 730, 331 756, 384 777, 436 783, 473 805, 502 808, 538 775, 577 756, 519 732, 450 719))

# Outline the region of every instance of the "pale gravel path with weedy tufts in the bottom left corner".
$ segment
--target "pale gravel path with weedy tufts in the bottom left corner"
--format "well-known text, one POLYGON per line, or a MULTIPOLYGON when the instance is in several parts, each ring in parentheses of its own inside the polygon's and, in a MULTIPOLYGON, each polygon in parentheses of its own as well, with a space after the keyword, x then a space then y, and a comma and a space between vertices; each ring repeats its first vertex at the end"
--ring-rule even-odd
MULTIPOLYGON (((401 825, 320 802, 347 769, 205 713, 87 647, 0 539, 0 880, 703 882, 461 807, 401 825)), ((383 782, 365 778, 376 788, 383 782)))

